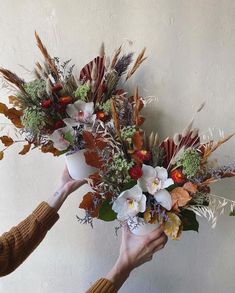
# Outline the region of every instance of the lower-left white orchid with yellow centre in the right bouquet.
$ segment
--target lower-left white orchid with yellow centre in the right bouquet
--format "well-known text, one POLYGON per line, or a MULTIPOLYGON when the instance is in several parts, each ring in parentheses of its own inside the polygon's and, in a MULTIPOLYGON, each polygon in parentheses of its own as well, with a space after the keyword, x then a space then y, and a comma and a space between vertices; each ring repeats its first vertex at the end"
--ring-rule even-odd
POLYGON ((125 221, 146 210, 146 196, 142 193, 141 188, 135 185, 119 195, 114 201, 112 209, 117 213, 120 221, 125 221))

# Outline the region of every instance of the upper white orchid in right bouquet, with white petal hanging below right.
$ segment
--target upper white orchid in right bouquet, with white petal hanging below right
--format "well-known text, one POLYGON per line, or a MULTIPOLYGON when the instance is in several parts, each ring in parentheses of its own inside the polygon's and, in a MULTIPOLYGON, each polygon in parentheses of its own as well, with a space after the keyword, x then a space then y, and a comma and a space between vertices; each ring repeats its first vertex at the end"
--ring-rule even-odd
POLYGON ((168 178, 167 170, 163 167, 153 168, 143 164, 142 171, 143 175, 138 179, 138 185, 143 192, 152 194, 161 206, 170 210, 172 199, 166 188, 174 184, 174 181, 168 178))

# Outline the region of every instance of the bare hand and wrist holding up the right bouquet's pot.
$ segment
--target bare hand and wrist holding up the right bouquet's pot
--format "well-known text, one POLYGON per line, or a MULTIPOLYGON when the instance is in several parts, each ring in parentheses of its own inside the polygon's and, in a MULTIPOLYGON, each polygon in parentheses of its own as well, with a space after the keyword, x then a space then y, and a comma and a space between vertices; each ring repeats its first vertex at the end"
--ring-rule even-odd
POLYGON ((167 243, 167 236, 159 227, 143 236, 131 233, 127 225, 122 231, 122 243, 118 260, 106 278, 109 279, 118 291, 131 271, 150 261, 154 253, 164 248, 167 243))

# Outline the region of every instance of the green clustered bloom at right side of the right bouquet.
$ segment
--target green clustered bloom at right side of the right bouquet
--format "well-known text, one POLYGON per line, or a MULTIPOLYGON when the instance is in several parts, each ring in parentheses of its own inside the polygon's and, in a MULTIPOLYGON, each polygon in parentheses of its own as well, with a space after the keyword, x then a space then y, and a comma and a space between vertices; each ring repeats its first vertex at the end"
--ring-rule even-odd
POLYGON ((193 177, 200 168, 200 154, 195 149, 186 149, 177 159, 177 165, 183 167, 183 173, 193 177))

